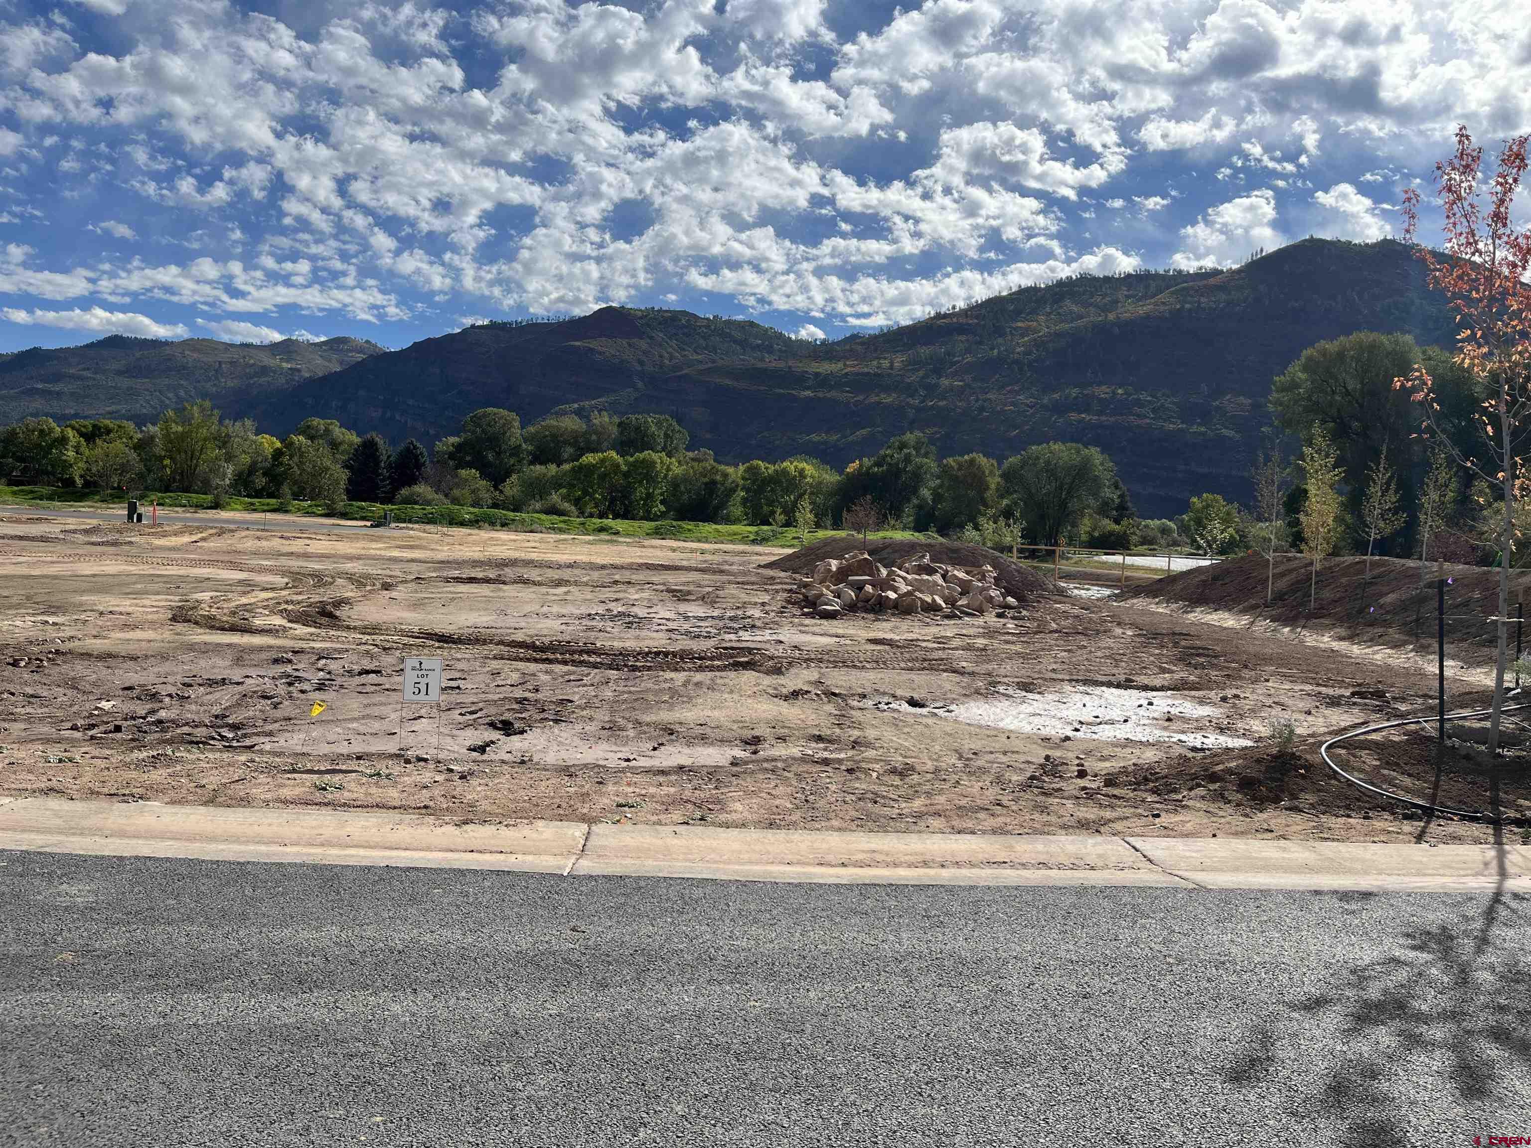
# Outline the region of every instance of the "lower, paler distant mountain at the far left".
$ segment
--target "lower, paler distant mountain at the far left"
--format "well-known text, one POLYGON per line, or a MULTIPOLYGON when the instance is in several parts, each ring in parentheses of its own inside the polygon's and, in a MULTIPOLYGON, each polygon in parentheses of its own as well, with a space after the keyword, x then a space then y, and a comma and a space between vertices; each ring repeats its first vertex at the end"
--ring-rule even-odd
POLYGON ((236 390, 280 392, 383 351, 349 337, 246 346, 107 335, 80 347, 32 347, 0 355, 0 422, 35 415, 149 422, 190 400, 224 404, 236 390))

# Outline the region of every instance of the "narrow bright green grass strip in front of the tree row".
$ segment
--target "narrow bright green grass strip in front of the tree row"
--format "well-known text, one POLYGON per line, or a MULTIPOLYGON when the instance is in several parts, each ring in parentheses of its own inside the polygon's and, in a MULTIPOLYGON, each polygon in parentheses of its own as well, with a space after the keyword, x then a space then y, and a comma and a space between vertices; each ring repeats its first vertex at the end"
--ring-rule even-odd
MULTIPOLYGON (((141 501, 158 501, 161 507, 182 510, 211 510, 210 494, 156 493, 141 496, 141 501)), ((64 490, 55 487, 0 487, 0 504, 6 505, 73 505, 104 504, 121 507, 126 496, 116 491, 64 490)), ((632 519, 583 519, 559 514, 519 514, 508 510, 484 510, 479 507, 381 507, 374 502, 344 502, 337 513, 326 514, 317 502, 280 502, 279 499, 231 497, 224 505, 228 511, 266 514, 311 514, 315 517, 341 517, 358 522, 375 522, 383 511, 392 510, 395 522, 426 523, 435 527, 472 527, 490 530, 519 530, 533 534, 608 534, 628 539, 680 539, 684 542, 732 542, 755 546, 782 546, 795 550, 801 536, 790 527, 747 527, 724 522, 637 522, 632 519)), ((833 530, 810 530, 808 542, 839 534, 833 530)), ((879 539, 923 537, 908 531, 880 531, 879 539)))

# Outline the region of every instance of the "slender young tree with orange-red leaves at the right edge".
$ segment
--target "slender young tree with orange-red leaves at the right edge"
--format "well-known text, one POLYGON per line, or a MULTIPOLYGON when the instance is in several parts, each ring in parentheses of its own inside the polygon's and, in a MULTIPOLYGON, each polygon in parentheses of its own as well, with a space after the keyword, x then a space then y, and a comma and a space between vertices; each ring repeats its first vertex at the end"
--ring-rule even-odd
POLYGON ((1526 144, 1517 136, 1499 153, 1499 168, 1484 182, 1484 148, 1467 127, 1456 129, 1456 153, 1436 164, 1436 193, 1445 214, 1445 245, 1418 245, 1419 191, 1404 193, 1404 239, 1416 243, 1430 286, 1447 297, 1459 326, 1456 361, 1479 387, 1477 427, 1484 461, 1459 450, 1441 426, 1435 383, 1422 364, 1395 387, 1409 387, 1424 409, 1425 432, 1435 432, 1456 461, 1480 475, 1503 496, 1499 528, 1499 657, 1488 748, 1499 748, 1500 712, 1508 664, 1510 559, 1516 542, 1516 502, 1531 494, 1520 455, 1531 445, 1531 228, 1516 228, 1510 208, 1526 171, 1526 144), (1487 191, 1487 210, 1485 210, 1487 191))

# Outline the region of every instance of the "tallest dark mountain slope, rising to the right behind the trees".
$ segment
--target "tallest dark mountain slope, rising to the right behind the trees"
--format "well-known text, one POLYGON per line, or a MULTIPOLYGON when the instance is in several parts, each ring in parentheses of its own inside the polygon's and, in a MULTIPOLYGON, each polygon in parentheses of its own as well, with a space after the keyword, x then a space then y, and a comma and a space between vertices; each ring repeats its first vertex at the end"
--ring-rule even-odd
POLYGON ((1448 344, 1445 302, 1399 243, 1304 240, 1223 272, 1027 288, 790 364, 703 366, 615 410, 675 413, 724 458, 842 464, 923 430, 943 453, 1101 447, 1144 514, 1205 490, 1246 499, 1271 380, 1320 340, 1405 331, 1448 344))

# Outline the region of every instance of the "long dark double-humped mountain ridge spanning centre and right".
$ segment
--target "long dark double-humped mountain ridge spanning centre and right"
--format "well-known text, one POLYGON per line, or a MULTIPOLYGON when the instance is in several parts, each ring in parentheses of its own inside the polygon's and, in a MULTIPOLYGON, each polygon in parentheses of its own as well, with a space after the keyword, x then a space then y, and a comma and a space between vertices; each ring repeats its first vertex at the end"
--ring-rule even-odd
POLYGON ((669 413, 726 461, 844 465, 905 430, 945 455, 998 459, 1075 439, 1112 455, 1141 513, 1167 516, 1205 490, 1246 497, 1271 380, 1318 340, 1367 329, 1453 337, 1405 246, 1309 239, 1228 271, 1061 280, 819 346, 686 311, 493 323, 285 387, 256 377, 219 403, 274 433, 318 415, 427 445, 484 406, 524 422, 560 409, 669 413))

